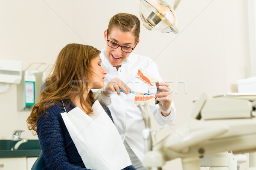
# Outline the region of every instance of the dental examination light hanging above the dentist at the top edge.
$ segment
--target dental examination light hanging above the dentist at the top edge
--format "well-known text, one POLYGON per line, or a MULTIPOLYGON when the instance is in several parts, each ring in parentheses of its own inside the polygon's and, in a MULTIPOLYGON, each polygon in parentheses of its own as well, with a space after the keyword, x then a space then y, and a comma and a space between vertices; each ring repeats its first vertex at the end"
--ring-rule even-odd
POLYGON ((140 0, 140 17, 148 30, 179 33, 175 10, 180 0, 140 0))

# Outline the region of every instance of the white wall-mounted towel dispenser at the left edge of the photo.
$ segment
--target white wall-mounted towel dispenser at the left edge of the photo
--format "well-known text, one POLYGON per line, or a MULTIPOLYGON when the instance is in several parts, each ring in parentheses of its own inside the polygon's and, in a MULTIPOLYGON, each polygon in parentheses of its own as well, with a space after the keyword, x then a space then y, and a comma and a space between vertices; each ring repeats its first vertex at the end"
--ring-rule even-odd
POLYGON ((0 93, 6 92, 10 84, 19 84, 21 80, 21 62, 0 59, 0 93))

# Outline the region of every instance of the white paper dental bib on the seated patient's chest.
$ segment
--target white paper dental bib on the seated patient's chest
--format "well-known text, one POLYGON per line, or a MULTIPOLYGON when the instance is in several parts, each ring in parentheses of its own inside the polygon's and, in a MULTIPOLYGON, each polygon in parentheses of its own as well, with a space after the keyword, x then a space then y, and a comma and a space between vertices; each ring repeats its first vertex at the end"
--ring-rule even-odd
POLYGON ((96 100, 88 116, 79 107, 61 113, 86 168, 122 170, 131 160, 122 139, 108 114, 96 100))

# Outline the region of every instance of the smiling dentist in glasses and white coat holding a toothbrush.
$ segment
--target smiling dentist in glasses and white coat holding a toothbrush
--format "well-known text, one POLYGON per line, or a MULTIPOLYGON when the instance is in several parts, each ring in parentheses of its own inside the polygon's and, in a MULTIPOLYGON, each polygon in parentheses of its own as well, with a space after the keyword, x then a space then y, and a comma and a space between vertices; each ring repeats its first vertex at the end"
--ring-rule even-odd
POLYGON ((148 57, 132 53, 140 42, 139 34, 140 20, 135 15, 119 13, 111 18, 108 29, 104 31, 106 48, 100 54, 102 67, 108 71, 105 75, 106 85, 96 92, 95 97, 108 105, 132 165, 137 170, 147 170, 143 166, 145 146, 142 130, 145 124, 140 109, 134 104, 135 94, 128 92, 155 94, 156 87, 149 87, 135 77, 138 68, 154 76, 160 82, 159 89, 163 90, 155 94, 163 105, 150 106, 157 122, 160 125, 172 124, 176 110, 172 91, 168 83, 162 82, 156 63, 148 57), (120 90, 124 93, 120 93, 120 90))

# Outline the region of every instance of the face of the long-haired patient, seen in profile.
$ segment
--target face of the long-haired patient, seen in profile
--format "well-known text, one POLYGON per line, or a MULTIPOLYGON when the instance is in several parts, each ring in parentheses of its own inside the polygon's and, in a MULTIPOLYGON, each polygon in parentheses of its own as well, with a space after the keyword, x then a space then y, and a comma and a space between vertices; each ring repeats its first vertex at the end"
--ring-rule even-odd
POLYGON ((101 62, 99 56, 91 60, 92 72, 90 73, 90 88, 99 89, 104 87, 104 78, 108 72, 102 68, 101 62))

